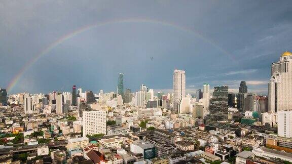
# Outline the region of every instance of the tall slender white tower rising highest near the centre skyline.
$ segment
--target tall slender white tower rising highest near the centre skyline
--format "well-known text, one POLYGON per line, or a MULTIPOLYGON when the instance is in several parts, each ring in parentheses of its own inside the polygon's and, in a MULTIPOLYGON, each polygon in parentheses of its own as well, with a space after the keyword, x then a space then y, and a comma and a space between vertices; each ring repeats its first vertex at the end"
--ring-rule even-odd
POLYGON ((177 104, 181 98, 186 97, 186 72, 184 70, 173 71, 173 108, 177 111, 177 104))

